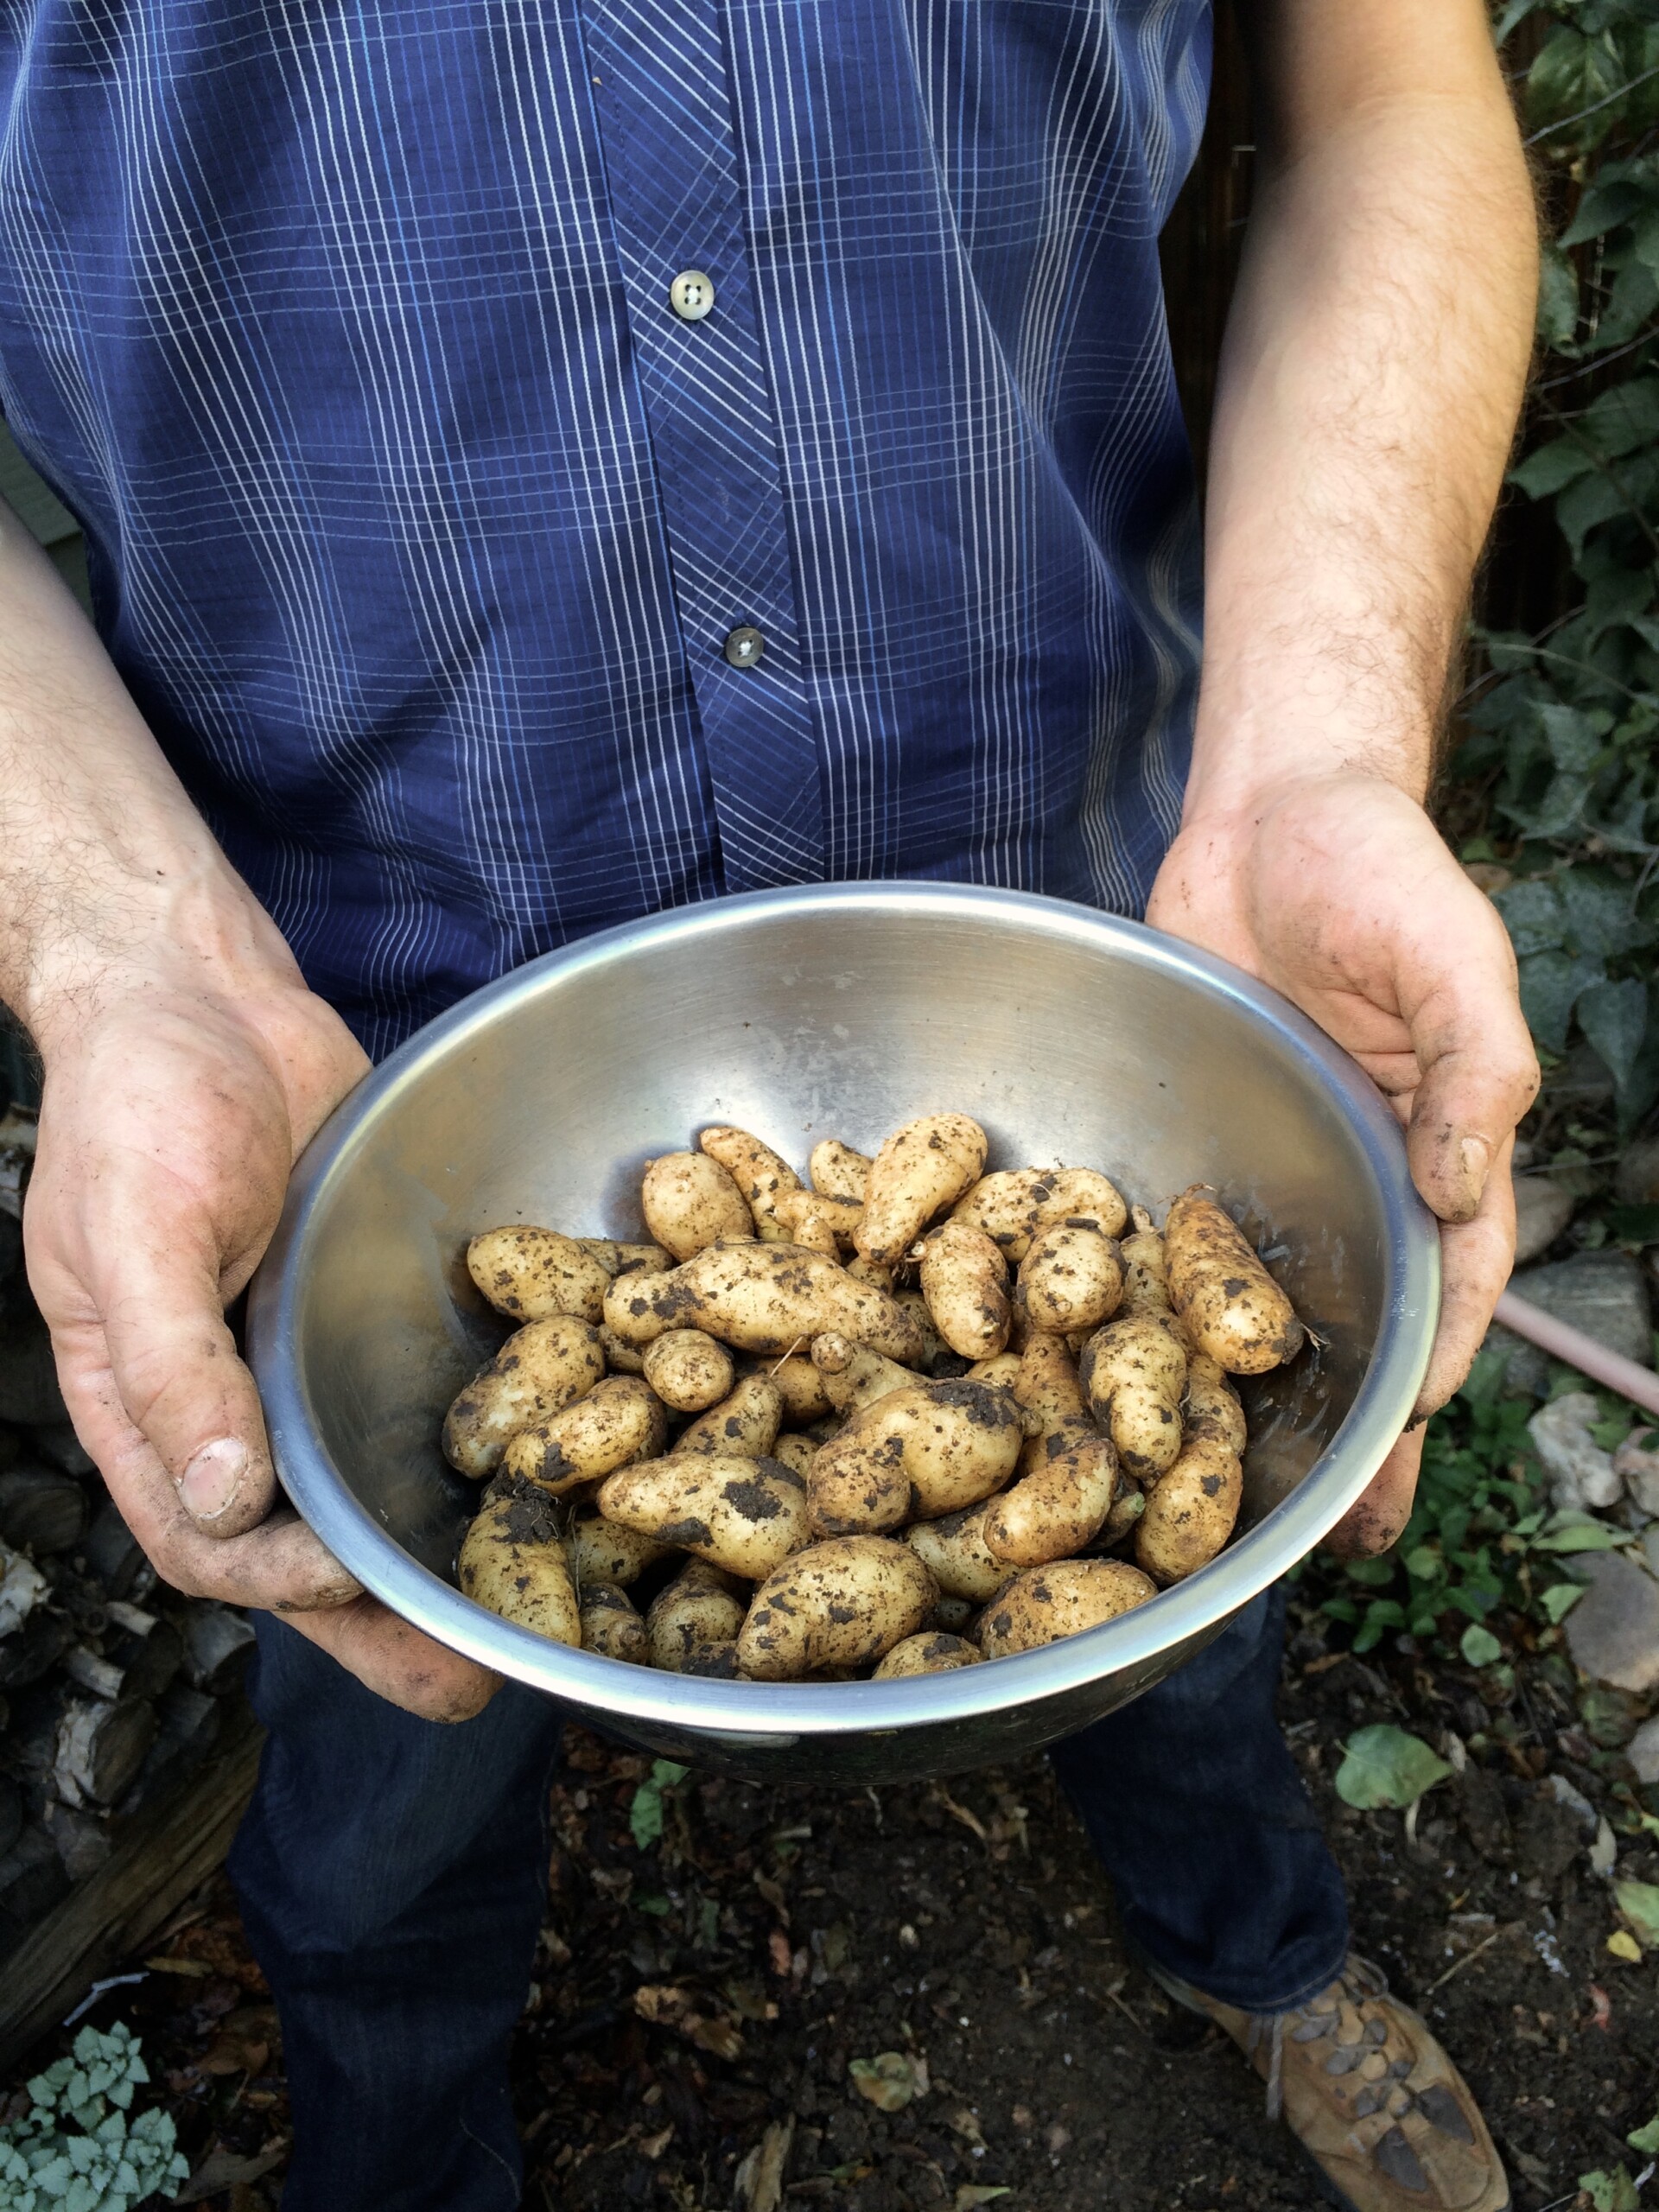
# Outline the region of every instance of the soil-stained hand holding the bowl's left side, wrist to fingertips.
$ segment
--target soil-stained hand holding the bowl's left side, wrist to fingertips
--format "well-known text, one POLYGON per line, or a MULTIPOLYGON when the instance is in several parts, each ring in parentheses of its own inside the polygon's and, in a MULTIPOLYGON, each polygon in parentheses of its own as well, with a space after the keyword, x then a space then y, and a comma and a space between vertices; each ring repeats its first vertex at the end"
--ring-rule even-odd
POLYGON ((367 1071, 356 1040, 296 973, 250 998, 150 964, 104 978, 44 1051, 29 1281, 75 1431, 155 1571, 281 1613, 409 1712, 478 1712, 495 1677, 365 1597, 279 1504, 223 1318, 294 1157, 367 1071))

